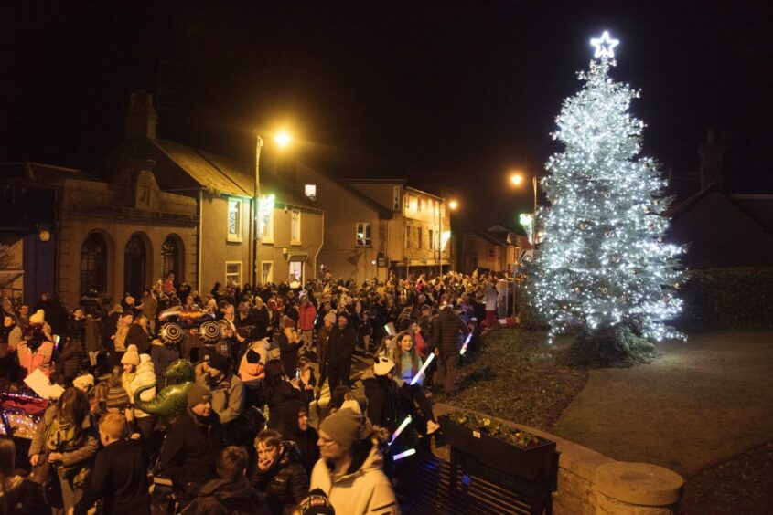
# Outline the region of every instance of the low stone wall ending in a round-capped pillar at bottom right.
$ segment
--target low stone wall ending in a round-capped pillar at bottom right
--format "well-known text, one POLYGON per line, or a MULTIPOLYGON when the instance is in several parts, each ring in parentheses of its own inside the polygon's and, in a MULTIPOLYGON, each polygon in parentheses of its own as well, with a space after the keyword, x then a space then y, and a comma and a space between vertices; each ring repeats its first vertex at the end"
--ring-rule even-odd
MULTIPOLYGON (((435 415, 455 409, 436 404, 435 415)), ((561 456, 558 489, 553 493, 555 515, 673 515, 679 512, 684 480, 676 472, 650 463, 617 461, 560 436, 499 420, 556 443, 561 456)))

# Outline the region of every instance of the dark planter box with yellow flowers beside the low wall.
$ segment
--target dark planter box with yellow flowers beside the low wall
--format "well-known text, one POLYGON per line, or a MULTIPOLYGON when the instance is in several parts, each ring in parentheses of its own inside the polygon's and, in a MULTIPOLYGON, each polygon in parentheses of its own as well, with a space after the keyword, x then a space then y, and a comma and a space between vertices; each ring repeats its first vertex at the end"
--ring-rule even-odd
POLYGON ((555 442, 537 436, 537 443, 523 448, 496 436, 456 424, 445 415, 440 416, 438 421, 446 443, 452 450, 473 458, 471 461, 510 477, 539 482, 542 485, 555 484, 558 475, 555 442))

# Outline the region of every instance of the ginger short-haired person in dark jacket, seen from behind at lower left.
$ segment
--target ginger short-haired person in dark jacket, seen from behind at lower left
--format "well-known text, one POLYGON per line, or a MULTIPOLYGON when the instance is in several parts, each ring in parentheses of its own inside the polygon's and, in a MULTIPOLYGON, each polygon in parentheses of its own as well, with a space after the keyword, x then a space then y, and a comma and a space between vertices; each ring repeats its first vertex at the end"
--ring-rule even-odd
POLYGON ((90 482, 75 506, 85 514, 97 499, 104 499, 102 513, 150 513, 147 489, 148 458, 139 440, 128 440, 126 418, 109 413, 100 419, 102 450, 94 460, 90 482))

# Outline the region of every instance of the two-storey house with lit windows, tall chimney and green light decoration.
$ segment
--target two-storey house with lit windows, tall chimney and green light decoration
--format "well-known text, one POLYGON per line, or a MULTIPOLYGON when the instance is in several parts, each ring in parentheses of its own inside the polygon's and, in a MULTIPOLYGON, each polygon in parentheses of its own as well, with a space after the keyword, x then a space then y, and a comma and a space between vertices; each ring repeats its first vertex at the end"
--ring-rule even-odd
POLYGON ((190 248, 191 268, 177 280, 201 291, 220 283, 303 280, 316 276, 322 246, 323 211, 303 194, 268 173, 261 173, 259 205, 254 202, 254 164, 156 138, 156 110, 145 93, 132 95, 126 111, 126 137, 101 165, 115 177, 121 163, 152 160, 162 191, 188 197, 199 225, 190 248), (252 220, 260 213, 257 239, 252 220))

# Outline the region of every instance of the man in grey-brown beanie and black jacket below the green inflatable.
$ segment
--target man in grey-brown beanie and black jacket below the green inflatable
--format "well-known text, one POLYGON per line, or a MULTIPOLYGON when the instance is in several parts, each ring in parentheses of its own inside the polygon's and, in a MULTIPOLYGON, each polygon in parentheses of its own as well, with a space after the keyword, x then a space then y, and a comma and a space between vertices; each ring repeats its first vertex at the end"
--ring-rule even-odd
POLYGON ((172 478, 177 499, 190 500, 201 485, 215 478, 222 447, 218 415, 212 410, 212 394, 202 384, 188 387, 188 409, 179 415, 166 434, 158 469, 172 478))

